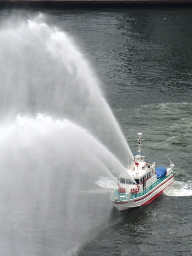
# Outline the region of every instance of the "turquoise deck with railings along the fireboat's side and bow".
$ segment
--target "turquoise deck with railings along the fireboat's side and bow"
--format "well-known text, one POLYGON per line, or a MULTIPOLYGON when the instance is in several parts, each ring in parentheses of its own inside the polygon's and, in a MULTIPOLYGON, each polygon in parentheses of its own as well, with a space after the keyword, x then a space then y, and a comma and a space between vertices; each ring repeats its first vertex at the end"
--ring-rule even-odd
POLYGON ((152 190, 153 188, 155 188, 158 184, 160 184, 161 182, 163 182, 164 180, 166 180, 167 178, 169 178, 172 175, 172 173, 169 176, 164 176, 164 177, 160 177, 156 182, 154 182, 154 184, 152 184, 149 187, 146 187, 141 193, 119 193, 118 189, 116 190, 112 190, 111 191, 111 199, 114 202, 122 202, 125 200, 130 200, 130 199, 134 199, 134 198, 138 198, 140 196, 143 196, 145 194, 147 194, 150 190, 152 190))

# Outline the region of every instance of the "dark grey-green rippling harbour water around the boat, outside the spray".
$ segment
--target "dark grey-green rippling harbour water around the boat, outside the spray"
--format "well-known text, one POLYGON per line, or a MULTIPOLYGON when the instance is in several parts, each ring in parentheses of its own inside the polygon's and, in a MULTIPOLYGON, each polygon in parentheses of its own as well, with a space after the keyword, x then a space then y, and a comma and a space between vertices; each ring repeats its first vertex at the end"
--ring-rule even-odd
MULTIPOLYGON (((174 184, 151 204, 122 214, 114 212, 108 200, 112 180, 102 175, 98 177, 96 184, 103 190, 99 200, 105 214, 95 212, 103 217, 101 224, 84 237, 77 255, 191 255, 192 9, 40 11, 46 14, 47 24, 68 32, 94 68, 132 152, 136 133, 142 132, 146 158, 152 158, 154 151, 156 166, 168 166, 166 156, 175 165, 174 184)), ((6 20, 10 10, 1 10, 0 14, 0 20, 6 20)), ((37 15, 38 10, 27 10, 20 15, 28 18, 28 14, 37 15)), ((116 156, 120 158, 117 149, 116 156)), ((128 159, 122 159, 122 163, 126 166, 128 159)), ((91 213, 88 222, 94 222, 94 205, 84 207, 91 213)), ((75 211, 81 220, 81 211, 78 208, 75 211)), ((24 226, 21 230, 18 223, 22 218, 29 218, 29 212, 28 209, 18 214, 15 210, 13 215, 1 216, 1 240, 6 244, 2 248, 7 252, 4 255, 19 255, 14 254, 14 250, 6 250, 5 246, 14 248, 17 240, 25 244, 25 239, 30 246, 36 246, 33 255, 63 255, 60 243, 64 229, 60 225, 66 217, 59 212, 54 215, 51 209, 47 234, 40 226, 36 227, 44 221, 36 220, 30 221, 33 226, 27 235, 28 230, 24 226), (6 222, 9 217, 12 220, 6 222), (52 221, 54 218, 57 222, 52 221), (10 237, 6 235, 4 239, 7 229, 10 237), (20 240, 22 232, 26 236, 20 240), (57 245, 60 251, 55 249, 57 245)), ((38 216, 41 215, 36 214, 38 216)), ((42 226, 45 228, 46 223, 42 226)), ((79 232, 71 226, 70 232, 79 232)), ((74 248, 76 242, 80 243, 73 241, 74 248)))

